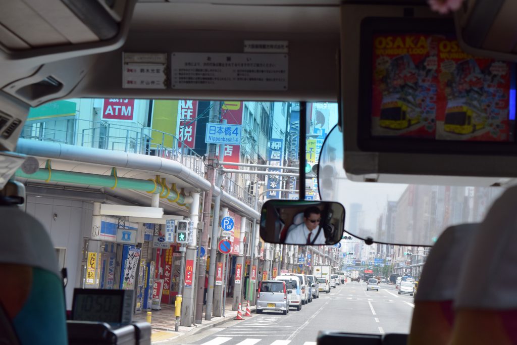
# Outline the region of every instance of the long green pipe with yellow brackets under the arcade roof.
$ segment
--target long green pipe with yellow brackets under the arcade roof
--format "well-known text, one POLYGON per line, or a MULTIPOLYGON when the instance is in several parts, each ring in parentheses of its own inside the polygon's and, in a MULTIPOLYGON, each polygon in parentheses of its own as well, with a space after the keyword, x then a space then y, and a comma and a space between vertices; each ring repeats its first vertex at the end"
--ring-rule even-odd
POLYGON ((181 204, 185 203, 185 197, 183 195, 179 194, 178 199, 178 194, 174 190, 169 189, 168 187, 163 188, 161 184, 154 180, 151 181, 138 178, 115 177, 111 175, 96 175, 63 170, 50 170, 49 176, 49 169, 44 168, 38 169, 38 171, 34 174, 26 174, 21 169, 19 169, 16 172, 16 176, 30 179, 39 179, 45 182, 66 182, 81 185, 108 187, 112 189, 121 188, 143 190, 151 194, 169 193, 166 196, 167 200, 181 204))

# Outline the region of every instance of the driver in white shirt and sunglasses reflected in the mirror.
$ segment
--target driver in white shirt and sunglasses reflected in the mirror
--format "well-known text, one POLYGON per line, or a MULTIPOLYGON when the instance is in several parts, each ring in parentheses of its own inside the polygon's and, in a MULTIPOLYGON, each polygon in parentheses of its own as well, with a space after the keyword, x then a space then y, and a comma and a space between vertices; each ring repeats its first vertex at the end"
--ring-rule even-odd
POLYGON ((315 206, 303 212, 303 222, 291 229, 285 238, 286 244, 325 245, 325 232, 320 227, 321 211, 315 206))

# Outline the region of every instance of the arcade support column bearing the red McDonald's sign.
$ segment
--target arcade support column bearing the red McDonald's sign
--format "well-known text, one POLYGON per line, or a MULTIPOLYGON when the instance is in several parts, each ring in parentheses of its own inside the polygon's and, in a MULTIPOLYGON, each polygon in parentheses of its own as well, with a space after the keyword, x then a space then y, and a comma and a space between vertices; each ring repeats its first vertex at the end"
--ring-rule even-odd
MULTIPOLYGON (((190 220, 194 223, 194 228, 192 231, 194 231, 194 234, 197 233, 197 223, 199 222, 199 204, 200 204, 200 193, 192 193, 192 204, 190 204, 190 220)), ((195 256, 196 256, 196 237, 194 237, 194 243, 192 245, 189 245, 187 247, 187 251, 185 252, 185 262, 195 262, 195 256), (190 261, 192 260, 192 261, 190 261)), ((192 277, 195 277, 195 270, 196 265, 192 265, 192 277)), ((183 272, 185 272, 185 267, 181 267, 183 269, 183 272)), ((181 280, 183 281, 183 279, 181 280)), ((204 280, 203 280, 204 283, 204 280)), ((184 285, 184 284, 182 284, 184 285)), ((181 326, 187 326, 190 327, 193 322, 193 316, 194 316, 194 296, 195 296, 195 286, 192 284, 192 286, 189 287, 180 287, 180 290, 183 290, 183 301, 181 302, 181 326)))

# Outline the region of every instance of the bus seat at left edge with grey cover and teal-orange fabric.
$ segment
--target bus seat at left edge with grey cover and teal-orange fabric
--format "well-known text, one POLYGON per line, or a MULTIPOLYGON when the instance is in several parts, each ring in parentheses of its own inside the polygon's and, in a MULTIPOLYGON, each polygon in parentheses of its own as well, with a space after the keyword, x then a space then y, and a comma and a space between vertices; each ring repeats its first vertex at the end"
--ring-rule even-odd
POLYGON ((0 329, 20 345, 67 344, 63 279, 47 231, 17 206, 1 206, 0 219, 0 329))

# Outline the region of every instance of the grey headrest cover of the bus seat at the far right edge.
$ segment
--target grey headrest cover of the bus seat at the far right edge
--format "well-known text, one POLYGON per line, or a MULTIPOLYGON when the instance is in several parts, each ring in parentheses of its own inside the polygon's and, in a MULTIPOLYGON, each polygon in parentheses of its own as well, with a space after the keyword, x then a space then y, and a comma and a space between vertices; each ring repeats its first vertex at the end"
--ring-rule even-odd
POLYGON ((517 187, 497 199, 473 237, 461 270, 454 307, 517 309, 517 187))

